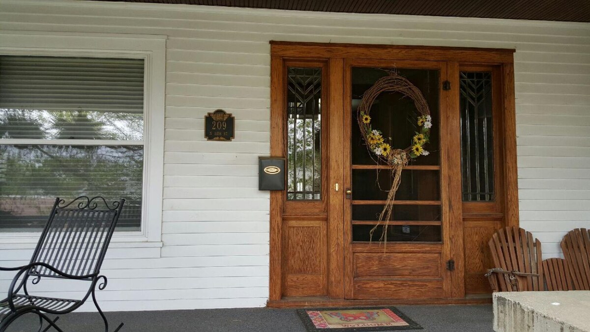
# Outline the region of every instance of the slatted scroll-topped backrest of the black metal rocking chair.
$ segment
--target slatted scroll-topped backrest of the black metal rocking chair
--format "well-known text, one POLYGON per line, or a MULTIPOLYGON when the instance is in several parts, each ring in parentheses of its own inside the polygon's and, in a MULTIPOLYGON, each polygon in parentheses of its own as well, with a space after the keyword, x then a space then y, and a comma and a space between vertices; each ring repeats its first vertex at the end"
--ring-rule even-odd
MULTIPOLYGON (((124 202, 114 201, 110 207, 100 196, 80 196, 67 204, 55 198, 31 263, 47 263, 75 276, 99 273, 124 202)), ((44 267, 28 275, 60 278, 44 267)))

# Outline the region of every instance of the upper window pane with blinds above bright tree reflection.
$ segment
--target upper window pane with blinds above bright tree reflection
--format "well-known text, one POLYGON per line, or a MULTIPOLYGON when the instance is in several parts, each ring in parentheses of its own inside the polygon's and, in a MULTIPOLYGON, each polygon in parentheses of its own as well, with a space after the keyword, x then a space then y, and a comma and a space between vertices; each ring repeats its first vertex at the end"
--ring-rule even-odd
POLYGON ((0 56, 0 138, 143 139, 143 62, 0 56))

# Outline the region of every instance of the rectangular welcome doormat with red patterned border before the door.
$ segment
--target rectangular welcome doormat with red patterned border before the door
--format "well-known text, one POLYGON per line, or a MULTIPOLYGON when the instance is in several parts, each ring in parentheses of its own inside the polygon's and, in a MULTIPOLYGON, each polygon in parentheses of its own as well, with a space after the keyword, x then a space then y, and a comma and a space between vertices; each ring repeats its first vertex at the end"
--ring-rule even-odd
POLYGON ((299 309, 297 314, 308 332, 369 332, 423 328, 395 307, 299 309))

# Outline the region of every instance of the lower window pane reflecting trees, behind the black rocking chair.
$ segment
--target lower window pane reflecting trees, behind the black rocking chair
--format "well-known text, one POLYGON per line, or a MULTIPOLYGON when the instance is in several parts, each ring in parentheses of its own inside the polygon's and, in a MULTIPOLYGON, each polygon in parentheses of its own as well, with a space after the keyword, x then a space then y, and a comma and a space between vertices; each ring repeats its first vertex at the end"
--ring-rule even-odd
POLYGON ((139 230, 141 145, 0 145, 0 228, 41 229, 55 197, 126 198, 120 230, 139 230))

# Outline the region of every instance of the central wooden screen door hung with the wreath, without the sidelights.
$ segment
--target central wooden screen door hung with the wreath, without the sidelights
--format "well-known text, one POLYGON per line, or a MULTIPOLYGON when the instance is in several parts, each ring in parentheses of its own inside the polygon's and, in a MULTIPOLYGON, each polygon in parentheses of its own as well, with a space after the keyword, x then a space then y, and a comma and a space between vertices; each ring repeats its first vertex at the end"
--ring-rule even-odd
MULTIPOLYGON (((450 297, 445 63, 349 60, 345 65, 345 294, 349 299, 450 297), (421 90, 432 116, 428 155, 401 174, 388 226, 376 226, 392 184, 388 165, 376 162, 360 134, 357 107, 376 80, 394 70, 421 90), (372 232, 372 235, 371 235, 372 232)), ((371 107, 371 126, 405 149, 419 132, 414 102, 381 93, 371 107)), ((460 179, 459 179, 460 180, 460 179)))

